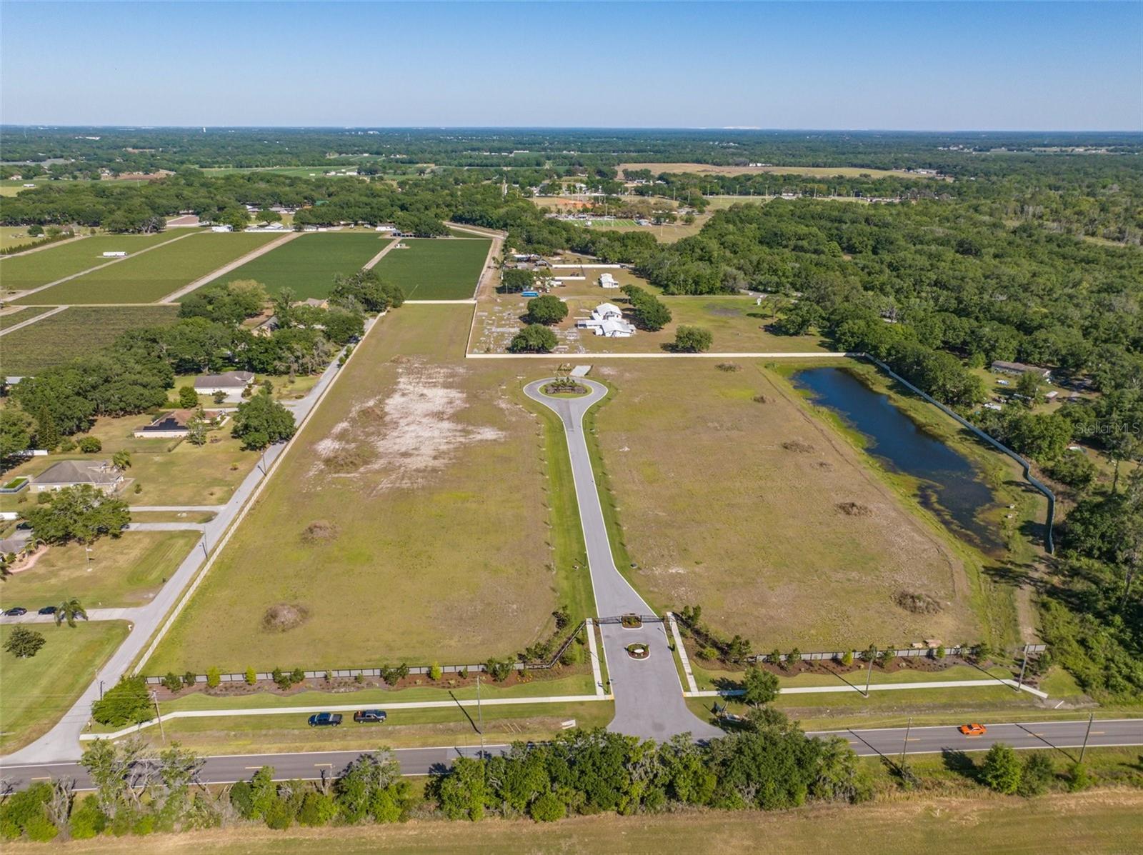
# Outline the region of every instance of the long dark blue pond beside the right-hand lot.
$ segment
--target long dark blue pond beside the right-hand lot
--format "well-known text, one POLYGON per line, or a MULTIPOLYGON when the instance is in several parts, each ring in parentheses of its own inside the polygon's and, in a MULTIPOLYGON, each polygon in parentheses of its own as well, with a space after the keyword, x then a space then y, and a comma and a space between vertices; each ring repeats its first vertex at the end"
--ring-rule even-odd
POLYGON ((981 519, 996 508, 996 497, 967 457, 927 434, 888 395, 845 368, 806 368, 791 379, 865 436, 869 453, 888 470, 918 479, 918 501, 956 535, 989 553, 1005 549, 996 525, 981 519))

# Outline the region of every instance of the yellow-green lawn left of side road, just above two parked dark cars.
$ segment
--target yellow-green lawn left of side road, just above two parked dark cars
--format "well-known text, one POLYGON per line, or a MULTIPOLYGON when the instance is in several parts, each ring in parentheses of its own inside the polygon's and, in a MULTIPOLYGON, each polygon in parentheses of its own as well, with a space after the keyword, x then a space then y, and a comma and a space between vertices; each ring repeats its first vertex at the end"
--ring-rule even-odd
POLYGON ((198 538, 198 532, 125 532, 101 537, 90 552, 80 543, 49 546, 0 586, 0 605, 32 610, 74 597, 85 608, 145 606, 198 538))

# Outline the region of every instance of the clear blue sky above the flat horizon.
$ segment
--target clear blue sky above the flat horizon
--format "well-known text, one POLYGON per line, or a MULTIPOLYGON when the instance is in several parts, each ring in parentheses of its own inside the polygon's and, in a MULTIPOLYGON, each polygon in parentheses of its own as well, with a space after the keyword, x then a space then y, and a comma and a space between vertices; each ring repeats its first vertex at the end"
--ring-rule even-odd
POLYGON ((1140 130, 1143 3, 3 0, 0 121, 1140 130))

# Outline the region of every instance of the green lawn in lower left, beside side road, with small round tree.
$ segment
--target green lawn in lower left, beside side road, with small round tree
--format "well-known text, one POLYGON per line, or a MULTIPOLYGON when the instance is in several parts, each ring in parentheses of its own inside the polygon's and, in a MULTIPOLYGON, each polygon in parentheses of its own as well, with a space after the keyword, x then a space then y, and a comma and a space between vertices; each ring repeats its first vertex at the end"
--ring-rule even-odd
MULTIPOLYGON (((18 660, 0 653, 0 751, 5 753, 47 733, 127 638, 127 624, 121 621, 32 629, 47 640, 34 657, 18 660)), ((0 639, 7 639, 11 630, 11 625, 0 626, 0 639)))

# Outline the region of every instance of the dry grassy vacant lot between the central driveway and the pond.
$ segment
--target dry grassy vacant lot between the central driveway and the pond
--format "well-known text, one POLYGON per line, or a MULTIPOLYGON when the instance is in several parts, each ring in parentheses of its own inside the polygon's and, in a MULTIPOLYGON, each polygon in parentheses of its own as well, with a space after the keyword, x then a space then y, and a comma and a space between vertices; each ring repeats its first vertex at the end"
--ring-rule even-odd
POLYGON ((589 416, 605 513, 622 526, 613 548, 618 566, 638 565, 630 576, 653 607, 701 605, 704 622, 758 650, 978 637, 974 580, 946 538, 764 362, 736 365, 593 369, 613 386, 589 416), (895 602, 904 592, 940 609, 909 612, 895 602))

